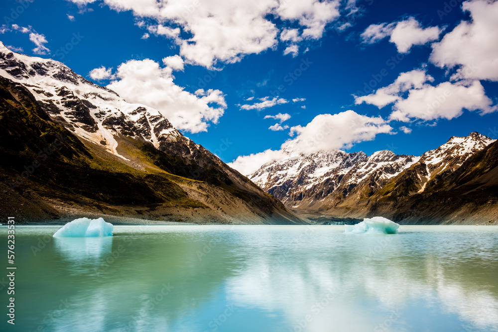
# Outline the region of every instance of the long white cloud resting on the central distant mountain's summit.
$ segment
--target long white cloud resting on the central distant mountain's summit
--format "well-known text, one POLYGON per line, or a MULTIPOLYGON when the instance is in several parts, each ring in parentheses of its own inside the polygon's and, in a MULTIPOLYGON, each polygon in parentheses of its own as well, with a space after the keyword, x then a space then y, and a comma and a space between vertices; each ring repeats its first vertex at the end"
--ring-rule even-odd
POLYGON ((355 111, 319 114, 305 126, 293 126, 278 150, 239 156, 229 165, 244 175, 255 172, 267 162, 299 153, 351 148, 354 144, 373 140, 379 133, 393 134, 392 127, 382 117, 369 117, 355 111))

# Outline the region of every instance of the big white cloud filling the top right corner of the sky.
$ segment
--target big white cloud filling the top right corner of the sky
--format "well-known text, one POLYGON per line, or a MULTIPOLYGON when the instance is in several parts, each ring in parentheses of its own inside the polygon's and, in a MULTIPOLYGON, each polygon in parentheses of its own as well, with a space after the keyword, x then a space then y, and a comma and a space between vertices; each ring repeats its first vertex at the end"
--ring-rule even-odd
POLYGON ((462 21, 432 45, 430 61, 439 67, 458 66, 452 79, 498 81, 498 2, 466 1, 472 20, 462 21))

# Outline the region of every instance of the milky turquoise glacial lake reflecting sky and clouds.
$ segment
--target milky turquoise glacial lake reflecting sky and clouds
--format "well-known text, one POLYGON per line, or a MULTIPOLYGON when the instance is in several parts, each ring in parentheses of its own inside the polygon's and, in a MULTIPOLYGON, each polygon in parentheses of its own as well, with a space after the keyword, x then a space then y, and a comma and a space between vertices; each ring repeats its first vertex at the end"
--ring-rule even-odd
POLYGON ((51 237, 59 228, 16 227, 16 324, 3 282, 0 331, 498 331, 494 226, 115 226, 112 237, 51 237))

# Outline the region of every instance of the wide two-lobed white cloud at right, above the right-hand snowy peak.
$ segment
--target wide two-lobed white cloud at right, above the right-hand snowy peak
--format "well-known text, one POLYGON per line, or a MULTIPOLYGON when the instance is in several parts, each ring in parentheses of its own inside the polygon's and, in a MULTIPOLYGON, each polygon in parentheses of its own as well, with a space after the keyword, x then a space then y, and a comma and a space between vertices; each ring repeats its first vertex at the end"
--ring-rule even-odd
POLYGON ((372 104, 378 108, 393 104, 389 119, 405 122, 412 119, 449 120, 460 116, 464 109, 480 111, 481 114, 497 110, 479 81, 443 82, 436 86, 427 83, 433 81, 425 70, 401 73, 387 87, 368 96, 355 97, 355 103, 372 104))

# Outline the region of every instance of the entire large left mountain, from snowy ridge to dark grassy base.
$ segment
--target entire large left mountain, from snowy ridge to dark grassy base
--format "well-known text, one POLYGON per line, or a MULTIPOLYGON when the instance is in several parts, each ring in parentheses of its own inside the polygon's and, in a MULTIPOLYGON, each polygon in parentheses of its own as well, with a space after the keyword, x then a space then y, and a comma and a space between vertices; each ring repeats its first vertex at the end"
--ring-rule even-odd
POLYGON ((0 210, 303 223, 158 111, 0 43, 0 210))

